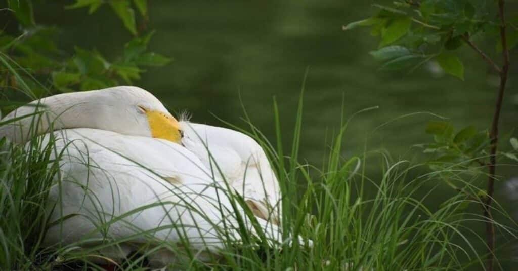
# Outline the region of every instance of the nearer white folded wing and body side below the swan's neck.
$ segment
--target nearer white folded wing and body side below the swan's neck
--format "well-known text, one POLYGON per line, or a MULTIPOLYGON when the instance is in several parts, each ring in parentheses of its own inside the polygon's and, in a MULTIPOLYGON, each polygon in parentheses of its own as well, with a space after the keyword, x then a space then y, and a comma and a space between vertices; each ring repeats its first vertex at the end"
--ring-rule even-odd
MULTIPOLYGON (((254 232, 221 183, 179 144, 89 128, 56 131, 53 137, 56 154, 62 155, 61 182, 49 196, 50 221, 68 219, 49 229, 47 246, 123 238, 123 246, 101 253, 124 258, 139 245, 153 242, 215 252, 240 241, 236 213, 254 232)), ((268 239, 281 240, 275 225, 258 222, 268 239)), ((160 255, 151 255, 156 266, 175 259, 164 250, 160 255)))

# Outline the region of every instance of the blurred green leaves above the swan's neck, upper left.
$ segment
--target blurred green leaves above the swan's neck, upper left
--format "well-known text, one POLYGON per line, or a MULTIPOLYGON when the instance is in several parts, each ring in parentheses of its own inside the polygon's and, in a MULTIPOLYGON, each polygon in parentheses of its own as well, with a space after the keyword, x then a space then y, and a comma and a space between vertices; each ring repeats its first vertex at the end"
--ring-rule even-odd
MULTIPOLYGON (((7 70, 0 70, 0 88, 17 89, 20 79, 32 84, 27 86, 36 97, 43 94, 73 90, 99 89, 121 84, 132 84, 145 72, 145 67, 163 66, 170 59, 148 51, 153 36, 147 31, 148 13, 146 0, 77 0, 65 9, 88 8, 92 14, 104 4, 111 7, 133 39, 120 45, 118 56, 106 57, 95 48, 76 46, 73 55, 60 49, 56 43, 58 26, 38 24, 34 19, 32 1, 6 0, 10 12, 16 17, 16 33, 0 31, 0 52, 24 72, 16 78, 7 70), (138 12, 135 12, 135 9, 138 12), (140 24, 137 29, 137 16, 140 24), (44 85, 36 84, 36 78, 44 85), (46 84, 48 83, 48 84, 46 84)), ((93 34, 93 33, 90 33, 93 34)), ((32 97, 35 98, 35 97, 32 97)))

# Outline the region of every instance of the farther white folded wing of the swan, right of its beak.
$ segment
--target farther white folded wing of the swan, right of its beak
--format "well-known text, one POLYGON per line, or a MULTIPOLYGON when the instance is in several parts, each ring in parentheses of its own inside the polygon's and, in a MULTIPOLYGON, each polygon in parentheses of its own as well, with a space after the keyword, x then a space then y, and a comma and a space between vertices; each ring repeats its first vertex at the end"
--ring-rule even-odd
POLYGON ((239 193, 252 212, 279 224, 281 193, 263 148, 247 134, 210 125, 180 121, 182 144, 239 193))

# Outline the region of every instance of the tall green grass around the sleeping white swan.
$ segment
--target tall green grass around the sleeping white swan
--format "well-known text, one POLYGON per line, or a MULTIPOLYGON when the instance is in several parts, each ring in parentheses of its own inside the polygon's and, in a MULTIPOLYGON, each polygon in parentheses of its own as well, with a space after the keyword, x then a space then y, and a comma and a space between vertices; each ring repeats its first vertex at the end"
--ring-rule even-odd
MULTIPOLYGON (((0 56, 6 69, 14 74, 12 64, 0 56)), ((18 76, 18 75, 17 75, 18 76)), ((19 80, 22 80, 18 76, 19 80)), ((22 80, 23 82, 23 80, 22 80)), ((22 86, 28 85, 23 83, 22 86)), ((304 89, 304 87, 303 87, 304 89)), ((25 91, 25 90, 23 90, 25 91)), ((26 94, 32 97, 31 92, 26 94)), ((280 182, 282 201, 277 208, 282 211, 283 239, 292 240, 272 245, 265 233, 255 225, 257 235, 250 233, 247 221, 256 222, 243 199, 234 194, 222 196, 232 199, 232 208, 238 225, 214 225, 221 228, 226 238, 225 248, 206 261, 198 260, 196 252, 189 249, 189 240, 171 244, 153 237, 153 231, 136 232, 125 239, 83 239, 61 247, 46 248, 41 241, 47 229, 54 226, 48 221, 47 197, 52 186, 59 185, 60 155, 55 142, 34 137, 26 146, 0 142, 0 269, 100 269, 90 263, 99 250, 118 247, 135 237, 144 237, 142 244, 120 269, 145 268, 146 257, 157 250, 174 252, 179 257, 178 269, 225 270, 464 270, 483 269, 485 250, 479 234, 465 226, 467 221, 482 220, 471 213, 466 205, 477 200, 462 194, 445 200, 439 207, 428 207, 426 199, 438 193, 429 189, 430 183, 442 182, 444 173, 460 176, 458 169, 430 170, 426 164, 413 164, 406 160, 393 161, 385 152, 365 151, 355 156, 344 156, 343 145, 348 121, 328 144, 322 168, 301 163, 298 157, 300 136, 303 130, 303 95, 296 112, 295 129, 289 155, 282 145, 282 130, 277 103, 274 101, 276 126, 275 144, 267 140, 253 126, 246 110, 244 120, 249 127, 241 130, 255 138, 264 148, 274 166, 280 182), (379 176, 368 174, 367 166, 383 169, 379 176), (428 189, 423 196, 423 189, 428 189), (238 209, 246 210, 244 217, 238 209), (247 220, 248 219, 248 220, 247 220), (238 237, 232 237, 225 227, 234 227, 238 237), (301 239, 295 238, 301 236, 301 239), (239 239, 239 242, 235 242, 239 239), (309 246, 309 241, 312 246, 309 246), (301 242, 300 242, 301 241, 301 242), (83 247, 83 249, 77 249, 83 247)), ((1 123, 0 123, 1 124, 1 123)), ((216 161, 217 162, 217 161, 216 161)), ((214 170, 219 170, 218 168, 214 170)), ((183 202, 184 204, 187 204, 183 202)), ((164 208, 169 203, 163 203, 164 208)), ((143 208, 152 208, 146 206, 143 208)), ((55 207, 59 208, 59 207, 55 207)), ((190 206, 193 212, 203 214, 203 208, 190 206)), ((504 210, 496 211, 509 218, 504 210)), ((98 231, 125 216, 99 223, 98 231)), ((227 210, 228 211, 228 210, 227 210)), ((224 212, 222 211, 222 215, 224 212)), ((66 220, 64 218, 63 220, 66 220)), ((60 223, 63 221, 57 221, 60 223)), ((55 222, 54 222, 55 223, 55 222)), ((512 222, 514 223, 514 222, 512 222)), ((500 231, 516 239, 514 227, 496 223, 500 231)), ((130 224, 127 225, 131 227, 130 224)), ((172 231, 182 232, 184 225, 170 225, 172 231)), ((156 231, 164 228, 157 228, 156 231)))

